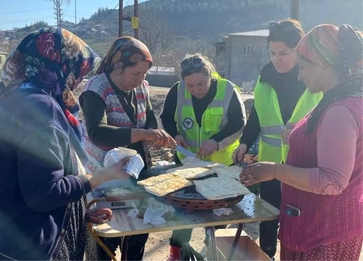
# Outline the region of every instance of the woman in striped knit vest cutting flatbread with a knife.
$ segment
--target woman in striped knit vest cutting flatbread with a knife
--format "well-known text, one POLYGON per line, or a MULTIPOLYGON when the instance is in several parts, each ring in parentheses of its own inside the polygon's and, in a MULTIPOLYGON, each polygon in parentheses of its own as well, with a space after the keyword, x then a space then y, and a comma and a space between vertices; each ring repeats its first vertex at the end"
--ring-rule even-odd
MULTIPOLYGON (((151 167, 148 142, 175 146, 174 139, 158 129, 150 103, 148 83, 144 79, 151 66, 146 45, 125 36, 113 43, 98 68, 98 75, 87 82, 79 102, 88 133, 85 148, 90 161, 86 168, 91 172, 103 166, 107 151, 113 148, 136 150, 147 169, 151 167)), ((141 234, 125 237, 124 241, 121 238, 102 240, 113 252, 128 244, 127 260, 140 261, 147 238, 148 234, 141 234)), ((102 248, 98 249, 99 254, 87 253, 87 260, 110 260, 102 248)))

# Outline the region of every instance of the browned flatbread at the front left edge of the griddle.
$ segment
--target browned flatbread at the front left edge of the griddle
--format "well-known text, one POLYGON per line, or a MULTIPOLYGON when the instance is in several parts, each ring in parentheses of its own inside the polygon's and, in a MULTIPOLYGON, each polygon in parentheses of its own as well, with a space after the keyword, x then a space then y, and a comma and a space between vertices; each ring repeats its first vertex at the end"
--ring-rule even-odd
POLYGON ((173 193, 176 190, 185 188, 187 186, 193 185, 193 182, 185 178, 170 178, 162 182, 156 183, 152 186, 144 186, 144 189, 151 194, 158 197, 165 196, 167 194, 173 193))

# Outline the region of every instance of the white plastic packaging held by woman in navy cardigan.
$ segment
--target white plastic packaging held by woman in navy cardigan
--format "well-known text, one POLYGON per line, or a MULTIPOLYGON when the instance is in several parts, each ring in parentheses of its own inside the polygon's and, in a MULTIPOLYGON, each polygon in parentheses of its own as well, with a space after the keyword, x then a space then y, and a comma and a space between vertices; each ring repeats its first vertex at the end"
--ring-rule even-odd
POLYGON ((131 156, 131 158, 124 169, 131 176, 138 179, 141 170, 144 168, 144 161, 140 154, 136 152, 136 150, 127 148, 111 149, 106 153, 105 160, 103 160, 103 165, 105 167, 112 166, 127 156, 131 156))

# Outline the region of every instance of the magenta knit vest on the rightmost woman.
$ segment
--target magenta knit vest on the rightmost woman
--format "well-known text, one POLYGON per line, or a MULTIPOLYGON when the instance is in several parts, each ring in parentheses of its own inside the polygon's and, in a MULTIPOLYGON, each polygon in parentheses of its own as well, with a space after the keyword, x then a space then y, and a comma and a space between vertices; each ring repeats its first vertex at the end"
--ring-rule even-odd
MULTIPOLYGON (((278 238, 289 250, 308 251, 363 234, 363 99, 348 98, 330 106, 334 105, 346 107, 360 126, 354 169, 348 186, 339 195, 314 194, 282 185, 278 238), (287 215, 286 205, 300 209, 301 215, 287 215)), ((316 130, 324 115, 311 135, 305 134, 307 116, 293 129, 289 138, 287 165, 297 168, 318 167, 316 130)))

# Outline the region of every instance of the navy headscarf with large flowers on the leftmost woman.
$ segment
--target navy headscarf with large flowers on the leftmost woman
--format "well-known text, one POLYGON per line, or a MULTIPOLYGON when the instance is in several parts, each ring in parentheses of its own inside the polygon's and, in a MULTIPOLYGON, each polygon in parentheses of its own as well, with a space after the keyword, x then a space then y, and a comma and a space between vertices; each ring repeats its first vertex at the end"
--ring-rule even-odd
POLYGON ((5 61, 0 76, 0 99, 15 88, 41 89, 61 106, 71 128, 71 140, 78 156, 83 129, 77 115, 79 104, 72 91, 97 68, 101 59, 81 39, 60 27, 30 33, 5 61))

